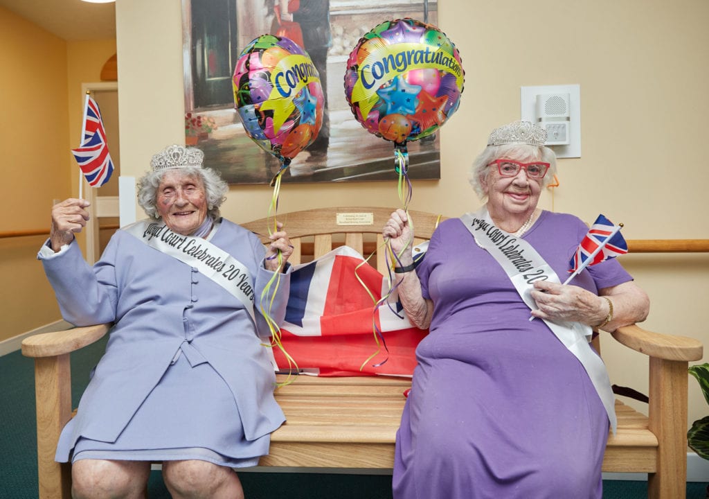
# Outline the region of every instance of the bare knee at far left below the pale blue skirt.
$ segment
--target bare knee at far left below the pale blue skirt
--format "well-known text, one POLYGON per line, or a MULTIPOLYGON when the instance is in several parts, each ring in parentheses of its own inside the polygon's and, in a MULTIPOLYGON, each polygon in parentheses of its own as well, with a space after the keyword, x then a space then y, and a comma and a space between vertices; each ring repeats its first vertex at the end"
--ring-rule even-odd
POLYGON ((145 499, 150 463, 80 459, 72 465, 74 499, 145 499))

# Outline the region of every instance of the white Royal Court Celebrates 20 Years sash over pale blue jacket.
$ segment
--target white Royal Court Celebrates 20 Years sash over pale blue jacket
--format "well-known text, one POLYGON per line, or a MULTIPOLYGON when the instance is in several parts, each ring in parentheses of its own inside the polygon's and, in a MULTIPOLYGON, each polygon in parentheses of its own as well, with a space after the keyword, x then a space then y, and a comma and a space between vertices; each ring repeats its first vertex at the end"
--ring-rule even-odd
POLYGON ((254 288, 249 270, 229 253, 209 242, 218 226, 219 221, 215 221, 206 239, 175 234, 163 221, 150 219, 137 221, 123 230, 147 246, 196 268, 202 275, 223 287, 242 302, 255 324, 254 288))

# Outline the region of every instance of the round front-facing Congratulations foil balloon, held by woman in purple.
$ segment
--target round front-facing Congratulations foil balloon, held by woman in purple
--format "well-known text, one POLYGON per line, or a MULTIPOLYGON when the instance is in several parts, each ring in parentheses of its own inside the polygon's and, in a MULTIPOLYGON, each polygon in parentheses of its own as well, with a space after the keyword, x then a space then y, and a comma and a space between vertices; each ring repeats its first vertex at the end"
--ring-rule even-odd
POLYGON ((384 21, 350 53, 345 98, 367 131, 405 144, 457 111, 464 75, 458 50, 438 28, 411 18, 384 21))

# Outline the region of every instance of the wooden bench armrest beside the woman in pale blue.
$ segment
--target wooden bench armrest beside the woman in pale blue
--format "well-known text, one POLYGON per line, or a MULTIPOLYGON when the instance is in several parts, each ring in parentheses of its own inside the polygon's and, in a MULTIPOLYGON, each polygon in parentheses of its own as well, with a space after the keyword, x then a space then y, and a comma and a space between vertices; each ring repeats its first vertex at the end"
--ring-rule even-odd
POLYGON ((54 357, 71 353, 103 338, 112 324, 74 327, 65 331, 35 334, 22 341, 22 354, 26 357, 54 357))

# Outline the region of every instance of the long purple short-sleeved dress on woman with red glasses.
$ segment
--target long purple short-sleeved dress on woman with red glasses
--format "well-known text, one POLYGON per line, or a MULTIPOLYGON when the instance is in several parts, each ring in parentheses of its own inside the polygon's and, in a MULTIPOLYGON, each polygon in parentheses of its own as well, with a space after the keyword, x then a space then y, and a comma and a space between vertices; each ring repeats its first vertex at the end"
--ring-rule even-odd
MULTIPOLYGON (((524 235, 559 278, 588 231, 542 212, 524 235)), ((608 415, 581 363, 530 309, 459 219, 416 270, 434 302, 396 437, 395 499, 601 498, 608 415)), ((632 280, 615 260, 571 282, 632 280)))

